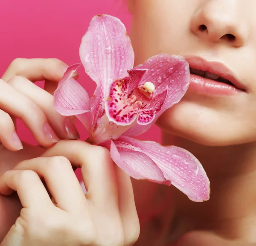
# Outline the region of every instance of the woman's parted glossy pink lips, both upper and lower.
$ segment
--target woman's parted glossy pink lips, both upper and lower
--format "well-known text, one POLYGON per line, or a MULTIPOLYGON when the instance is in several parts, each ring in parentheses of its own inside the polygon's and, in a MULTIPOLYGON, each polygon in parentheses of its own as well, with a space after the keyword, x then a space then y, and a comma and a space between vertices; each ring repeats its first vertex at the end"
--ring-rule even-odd
POLYGON ((233 72, 221 62, 207 61, 198 56, 185 56, 192 69, 207 71, 219 75, 220 77, 229 80, 233 85, 225 84, 209 78, 201 77, 200 75, 190 74, 190 90, 198 93, 230 95, 246 92, 246 88, 236 77, 233 72))

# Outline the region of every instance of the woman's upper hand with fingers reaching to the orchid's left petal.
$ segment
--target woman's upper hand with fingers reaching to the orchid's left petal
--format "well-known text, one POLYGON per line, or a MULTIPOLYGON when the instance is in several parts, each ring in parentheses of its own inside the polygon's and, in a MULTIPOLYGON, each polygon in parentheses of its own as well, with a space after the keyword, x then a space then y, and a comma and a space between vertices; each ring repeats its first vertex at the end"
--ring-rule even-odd
POLYGON ((71 119, 59 115, 51 93, 67 69, 57 59, 22 59, 12 62, 0 80, 0 142, 12 151, 23 148, 12 118, 22 119, 38 143, 50 147, 58 139, 77 139, 71 119), (43 90, 35 81, 46 80, 43 90))

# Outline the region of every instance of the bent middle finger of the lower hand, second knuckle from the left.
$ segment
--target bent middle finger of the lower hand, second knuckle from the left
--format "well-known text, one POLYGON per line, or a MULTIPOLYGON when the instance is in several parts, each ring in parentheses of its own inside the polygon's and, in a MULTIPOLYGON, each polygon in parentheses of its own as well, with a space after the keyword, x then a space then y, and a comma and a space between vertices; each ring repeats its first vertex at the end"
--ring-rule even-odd
POLYGON ((20 162, 15 170, 32 170, 44 178, 58 208, 79 212, 87 206, 84 193, 67 158, 55 156, 30 159, 20 162))

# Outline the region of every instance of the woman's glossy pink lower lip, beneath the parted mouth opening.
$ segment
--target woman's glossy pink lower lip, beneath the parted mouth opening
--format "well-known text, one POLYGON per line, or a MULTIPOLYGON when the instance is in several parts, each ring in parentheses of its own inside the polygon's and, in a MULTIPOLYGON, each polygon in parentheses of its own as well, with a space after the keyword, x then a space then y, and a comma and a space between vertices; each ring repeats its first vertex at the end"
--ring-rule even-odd
POLYGON ((195 74, 190 74, 189 90, 195 93, 215 96, 233 95, 244 92, 244 90, 240 90, 230 84, 224 84, 195 74))

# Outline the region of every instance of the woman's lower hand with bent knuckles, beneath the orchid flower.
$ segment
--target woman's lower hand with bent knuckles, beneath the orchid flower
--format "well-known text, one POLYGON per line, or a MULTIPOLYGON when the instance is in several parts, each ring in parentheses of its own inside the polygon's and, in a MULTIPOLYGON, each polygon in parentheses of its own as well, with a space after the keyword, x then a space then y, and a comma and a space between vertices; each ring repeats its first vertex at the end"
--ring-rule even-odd
POLYGON ((137 240, 131 180, 105 148, 60 141, 0 177, 0 193, 13 191, 23 208, 1 246, 128 246, 137 240), (81 168, 85 196, 70 162, 81 168))

